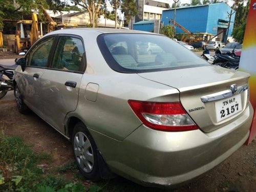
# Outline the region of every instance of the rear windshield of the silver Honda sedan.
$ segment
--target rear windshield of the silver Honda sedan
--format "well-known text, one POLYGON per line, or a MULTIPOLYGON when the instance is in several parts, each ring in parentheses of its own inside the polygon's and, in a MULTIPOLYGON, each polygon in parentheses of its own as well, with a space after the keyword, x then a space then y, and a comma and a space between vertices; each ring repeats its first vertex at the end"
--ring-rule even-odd
POLYGON ((190 50, 162 35, 110 33, 99 35, 97 42, 108 65, 122 73, 209 65, 190 50))

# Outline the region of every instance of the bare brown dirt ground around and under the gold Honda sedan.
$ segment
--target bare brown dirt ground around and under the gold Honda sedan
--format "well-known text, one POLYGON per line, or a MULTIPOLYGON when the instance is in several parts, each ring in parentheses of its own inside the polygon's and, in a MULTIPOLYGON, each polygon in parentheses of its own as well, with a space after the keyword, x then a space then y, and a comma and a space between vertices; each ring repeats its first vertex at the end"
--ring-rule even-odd
MULTIPOLYGON (((1 57, 0 52, 1 58, 3 57, 1 57)), ((12 57, 9 55, 8 58, 12 57)), ((71 143, 34 113, 28 115, 19 114, 16 109, 13 92, 9 92, 6 97, 0 99, 0 127, 2 126, 4 126, 6 134, 21 136, 25 142, 32 143, 35 152, 46 152, 50 154, 53 159, 49 165, 50 168, 60 167, 73 161, 71 143)), ((72 175, 68 174, 73 173, 67 173, 65 175, 69 179, 72 178, 72 175)), ((87 181, 79 180, 78 182, 86 183, 87 181)), ((110 183, 118 183, 118 185, 126 186, 125 191, 162 191, 141 187, 121 177, 112 179, 110 183)), ((255 191, 255 189, 256 140, 254 139, 250 145, 243 145, 232 156, 201 178, 174 191, 231 192, 255 191)))

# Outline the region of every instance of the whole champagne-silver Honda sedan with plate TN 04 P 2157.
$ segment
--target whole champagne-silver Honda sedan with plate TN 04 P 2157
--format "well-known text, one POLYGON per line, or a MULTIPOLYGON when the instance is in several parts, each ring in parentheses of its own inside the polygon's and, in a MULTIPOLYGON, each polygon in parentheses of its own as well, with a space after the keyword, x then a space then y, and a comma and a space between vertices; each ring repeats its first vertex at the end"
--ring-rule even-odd
POLYGON ((91 180, 115 173, 145 186, 182 184, 249 135, 249 74, 211 66, 163 35, 58 30, 16 63, 18 111, 32 110, 69 139, 91 180), (138 51, 141 44, 159 51, 138 51))

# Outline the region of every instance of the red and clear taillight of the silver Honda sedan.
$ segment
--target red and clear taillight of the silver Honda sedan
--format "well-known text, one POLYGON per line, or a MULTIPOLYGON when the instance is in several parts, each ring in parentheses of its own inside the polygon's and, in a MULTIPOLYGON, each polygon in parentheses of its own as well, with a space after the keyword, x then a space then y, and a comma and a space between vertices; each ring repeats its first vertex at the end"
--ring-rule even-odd
POLYGON ((142 123, 151 129, 169 132, 198 129, 179 102, 129 100, 128 103, 142 123))

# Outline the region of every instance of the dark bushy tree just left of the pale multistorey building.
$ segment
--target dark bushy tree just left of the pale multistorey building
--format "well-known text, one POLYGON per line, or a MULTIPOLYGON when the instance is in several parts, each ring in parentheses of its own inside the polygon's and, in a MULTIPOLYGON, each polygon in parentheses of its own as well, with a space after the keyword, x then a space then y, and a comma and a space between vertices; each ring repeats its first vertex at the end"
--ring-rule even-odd
POLYGON ((137 6, 136 6, 136 2, 131 1, 131 0, 122 0, 121 11, 122 11, 122 13, 124 13, 124 16, 126 18, 124 23, 126 25, 128 25, 131 18, 134 15, 138 14, 138 9, 137 9, 137 6))

